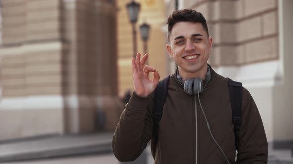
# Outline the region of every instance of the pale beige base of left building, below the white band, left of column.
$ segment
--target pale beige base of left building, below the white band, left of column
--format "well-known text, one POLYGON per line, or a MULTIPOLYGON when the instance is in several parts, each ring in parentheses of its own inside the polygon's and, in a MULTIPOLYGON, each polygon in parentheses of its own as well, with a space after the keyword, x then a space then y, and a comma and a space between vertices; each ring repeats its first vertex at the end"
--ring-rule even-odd
POLYGON ((0 110, 0 139, 63 132, 60 109, 0 110))

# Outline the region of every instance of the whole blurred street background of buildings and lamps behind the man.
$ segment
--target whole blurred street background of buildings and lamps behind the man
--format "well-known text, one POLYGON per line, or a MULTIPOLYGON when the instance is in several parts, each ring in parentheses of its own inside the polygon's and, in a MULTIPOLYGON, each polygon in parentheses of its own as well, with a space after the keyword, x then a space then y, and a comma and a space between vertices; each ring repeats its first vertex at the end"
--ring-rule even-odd
MULTIPOLYGON (((252 94, 269 164, 293 164, 293 0, 0 0, 0 163, 122 164, 131 58, 174 73, 166 20, 183 8, 207 19, 216 72, 252 94)), ((149 147, 123 164, 153 164, 149 147)))

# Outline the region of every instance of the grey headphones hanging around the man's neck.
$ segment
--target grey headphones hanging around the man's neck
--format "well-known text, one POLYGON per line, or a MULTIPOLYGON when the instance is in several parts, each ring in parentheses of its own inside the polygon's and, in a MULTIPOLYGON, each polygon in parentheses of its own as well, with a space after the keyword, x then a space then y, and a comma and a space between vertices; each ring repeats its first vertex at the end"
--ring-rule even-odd
MULTIPOLYGON (((182 78, 179 75, 179 71, 177 69, 176 71, 177 74, 177 79, 182 82, 182 78)), ((210 66, 208 65, 208 71, 207 71, 207 75, 205 79, 186 79, 184 82, 184 91, 189 94, 189 95, 193 95, 193 94, 198 94, 198 93, 202 93, 204 90, 204 82, 208 82, 211 80, 211 69, 210 66)))

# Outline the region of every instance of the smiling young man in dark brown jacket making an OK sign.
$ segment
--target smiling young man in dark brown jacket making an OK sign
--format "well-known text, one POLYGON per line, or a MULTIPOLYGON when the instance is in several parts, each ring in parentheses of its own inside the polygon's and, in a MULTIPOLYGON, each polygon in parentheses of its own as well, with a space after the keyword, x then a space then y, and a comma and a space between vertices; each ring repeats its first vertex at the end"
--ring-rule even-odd
MULTIPOLYGON (((235 146, 234 125, 226 78, 207 60, 212 50, 204 16, 176 10, 168 18, 167 50, 178 65, 170 76, 159 122, 155 164, 266 164, 268 144, 263 123, 250 93, 242 89, 242 120, 235 146), (195 82, 201 89, 196 90, 195 82), (235 152, 237 149, 237 162, 235 152)), ((153 139, 153 91, 160 76, 132 59, 134 92, 121 115, 112 148, 119 161, 137 159, 153 139), (153 80, 148 79, 153 72, 153 80)))

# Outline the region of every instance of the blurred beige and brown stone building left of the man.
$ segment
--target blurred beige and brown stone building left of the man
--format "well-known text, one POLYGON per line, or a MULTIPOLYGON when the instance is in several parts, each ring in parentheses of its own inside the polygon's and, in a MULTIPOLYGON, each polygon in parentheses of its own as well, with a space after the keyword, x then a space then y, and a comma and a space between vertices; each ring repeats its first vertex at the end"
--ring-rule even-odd
POLYGON ((116 12, 115 0, 2 0, 0 139, 115 128, 116 12))

